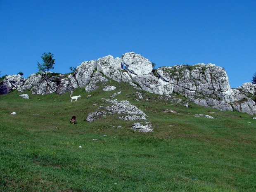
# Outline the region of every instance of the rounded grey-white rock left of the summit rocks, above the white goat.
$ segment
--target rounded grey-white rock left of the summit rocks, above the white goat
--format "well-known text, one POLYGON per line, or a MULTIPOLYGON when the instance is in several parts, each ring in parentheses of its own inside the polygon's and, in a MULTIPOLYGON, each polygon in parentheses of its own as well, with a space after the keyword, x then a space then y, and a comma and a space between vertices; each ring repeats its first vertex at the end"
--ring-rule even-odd
POLYGON ((86 61, 76 67, 75 76, 79 87, 84 87, 90 82, 91 75, 97 66, 97 61, 86 61))

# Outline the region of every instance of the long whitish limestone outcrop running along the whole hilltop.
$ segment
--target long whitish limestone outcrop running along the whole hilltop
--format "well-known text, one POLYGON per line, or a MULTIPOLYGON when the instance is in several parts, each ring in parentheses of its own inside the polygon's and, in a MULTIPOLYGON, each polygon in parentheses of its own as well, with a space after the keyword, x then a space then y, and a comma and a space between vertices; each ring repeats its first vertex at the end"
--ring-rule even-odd
MULTIPOLYGON (((128 52, 121 58, 108 55, 92 61, 86 61, 76 67, 69 76, 51 74, 43 76, 35 73, 25 81, 20 75, 7 76, 1 85, 8 90, 31 90, 33 94, 72 92, 73 88, 85 87, 86 92, 97 89, 109 81, 126 81, 137 90, 165 95, 178 93, 188 100, 204 107, 219 110, 237 110, 256 114, 256 85, 244 83, 236 89, 230 88, 228 76, 222 67, 215 64, 163 66, 152 71, 152 63, 134 52, 128 52), (95 71, 97 68, 97 71, 95 71), (153 73, 154 72, 154 73, 153 73), (107 78, 106 78, 107 77, 107 78), (137 87, 140 85, 141 88, 137 87)), ((50 72, 49 72, 50 73, 50 72)), ((105 90, 105 89, 104 89, 105 90)), ((109 89, 106 89, 109 90, 109 89)), ((114 98, 116 95, 112 95, 114 98)), ((142 95, 136 94, 138 98, 142 95)), ((188 107, 188 104, 184 104, 188 107)), ((129 119, 129 116, 120 118, 129 119)), ((135 117, 133 117, 135 118, 135 117)), ((136 118, 135 118, 136 119, 136 118)))

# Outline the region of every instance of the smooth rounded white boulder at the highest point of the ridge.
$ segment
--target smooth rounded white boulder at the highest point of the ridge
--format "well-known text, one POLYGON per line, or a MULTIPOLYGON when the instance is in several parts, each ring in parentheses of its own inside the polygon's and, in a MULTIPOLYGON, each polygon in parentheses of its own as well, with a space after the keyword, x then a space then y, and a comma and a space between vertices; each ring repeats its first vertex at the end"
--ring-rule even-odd
POLYGON ((126 70, 135 75, 148 75, 153 70, 152 63, 148 59, 134 52, 122 55, 121 62, 126 67, 126 70))

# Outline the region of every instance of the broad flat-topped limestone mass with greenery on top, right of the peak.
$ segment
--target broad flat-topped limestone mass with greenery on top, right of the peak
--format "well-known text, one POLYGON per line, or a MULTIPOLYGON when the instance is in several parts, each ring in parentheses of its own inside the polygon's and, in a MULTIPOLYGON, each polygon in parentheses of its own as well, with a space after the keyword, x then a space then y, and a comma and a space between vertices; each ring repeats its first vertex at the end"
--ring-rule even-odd
POLYGON ((171 84, 169 92, 179 92, 192 102, 204 107, 230 110, 235 94, 222 67, 215 64, 175 65, 160 67, 157 73, 161 83, 171 84))

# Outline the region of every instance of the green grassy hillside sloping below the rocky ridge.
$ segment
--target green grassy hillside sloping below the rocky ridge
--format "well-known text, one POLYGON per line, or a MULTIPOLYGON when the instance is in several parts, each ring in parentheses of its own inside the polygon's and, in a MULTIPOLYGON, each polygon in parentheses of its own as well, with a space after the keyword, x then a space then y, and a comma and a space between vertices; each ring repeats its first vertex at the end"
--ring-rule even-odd
POLYGON ((28 100, 17 91, 0 95, 0 192, 256 191, 256 120, 249 114, 186 108, 145 91, 137 101, 130 85, 106 85, 117 88, 77 88, 73 96, 81 98, 72 103, 69 93, 25 92, 28 100), (117 114, 85 121, 107 105, 101 98, 119 91, 114 99, 142 109, 148 117, 140 122, 150 121, 154 132, 134 132, 138 121, 117 114), (73 115, 76 125, 69 123, 73 115))

